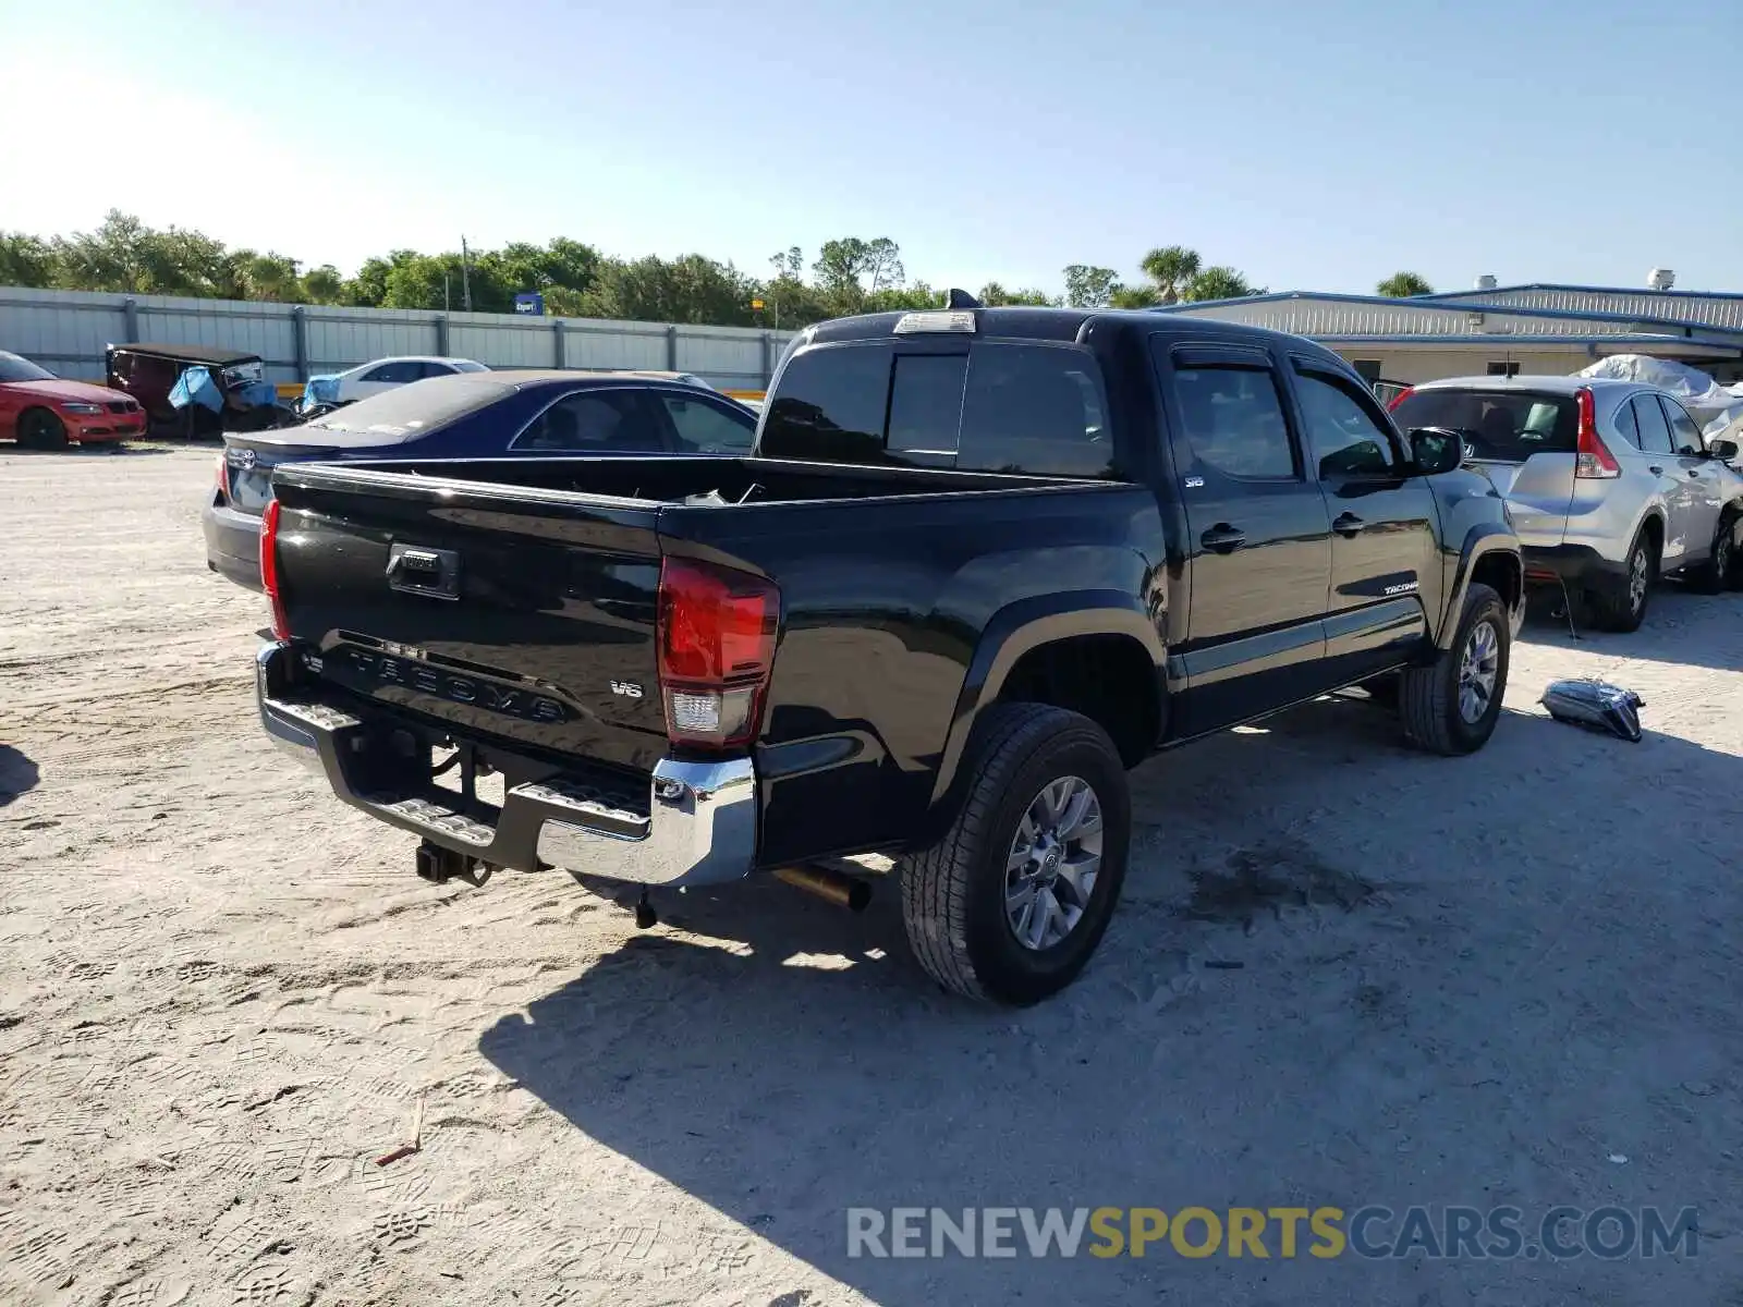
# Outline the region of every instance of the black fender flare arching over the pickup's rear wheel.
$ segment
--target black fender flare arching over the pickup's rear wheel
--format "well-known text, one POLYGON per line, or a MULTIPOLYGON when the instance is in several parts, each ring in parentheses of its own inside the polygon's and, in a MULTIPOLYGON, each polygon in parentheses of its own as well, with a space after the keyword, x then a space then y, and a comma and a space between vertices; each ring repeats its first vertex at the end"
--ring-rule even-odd
MULTIPOLYGON (((1131 636, 1149 654, 1156 667, 1156 694, 1166 720, 1168 660, 1156 622, 1121 591, 1065 591, 1009 603, 992 615, 981 631, 967 676, 950 718, 950 734, 938 763, 931 803, 936 809, 957 782, 957 770, 974 721, 999 699, 1011 669, 1030 650, 1074 636, 1131 636)), ((1161 728, 1161 723, 1159 723, 1161 728)))

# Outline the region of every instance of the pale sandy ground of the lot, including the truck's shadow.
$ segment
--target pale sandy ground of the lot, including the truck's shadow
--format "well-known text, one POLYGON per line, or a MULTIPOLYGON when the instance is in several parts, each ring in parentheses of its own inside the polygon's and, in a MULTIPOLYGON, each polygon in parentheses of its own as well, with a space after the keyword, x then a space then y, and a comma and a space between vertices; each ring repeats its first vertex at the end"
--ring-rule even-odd
POLYGON ((1333 699, 1149 763, 1100 955, 1002 1012, 924 983, 889 892, 638 932, 563 873, 417 880, 256 725, 211 460, 0 455, 0 1302, 1743 1304, 1743 596, 1534 620, 1476 758, 1333 699), (1543 716, 1588 673, 1644 742, 1543 716), (852 1206, 1412 1202, 1692 1204, 1699 1244, 845 1239, 852 1206))

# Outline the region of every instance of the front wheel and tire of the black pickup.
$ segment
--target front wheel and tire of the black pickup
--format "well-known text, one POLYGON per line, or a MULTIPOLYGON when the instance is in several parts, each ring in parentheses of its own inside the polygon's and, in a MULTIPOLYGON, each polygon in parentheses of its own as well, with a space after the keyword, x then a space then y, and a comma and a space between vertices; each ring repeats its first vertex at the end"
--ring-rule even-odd
POLYGON ((1464 612, 1459 615, 1452 648, 1441 650, 1426 667, 1408 667, 1398 681, 1398 713, 1403 718, 1405 739, 1419 749, 1447 756, 1476 753, 1483 748, 1501 720, 1509 654, 1511 627, 1506 605, 1492 587, 1473 584, 1464 596, 1464 612), (1480 636, 1478 631, 1485 626, 1489 634, 1480 636), (1478 692, 1485 674, 1487 695, 1478 692), (1468 714, 1473 706, 1482 709, 1475 718, 1468 714))

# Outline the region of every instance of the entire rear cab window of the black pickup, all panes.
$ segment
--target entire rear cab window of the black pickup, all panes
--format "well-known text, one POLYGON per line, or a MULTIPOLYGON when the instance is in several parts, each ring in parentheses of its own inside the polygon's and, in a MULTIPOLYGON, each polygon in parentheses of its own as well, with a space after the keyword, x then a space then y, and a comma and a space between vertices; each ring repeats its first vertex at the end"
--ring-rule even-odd
POLYGON ((760 453, 837 464, 1110 479, 1095 359, 1070 345, 816 345, 769 397, 760 453))

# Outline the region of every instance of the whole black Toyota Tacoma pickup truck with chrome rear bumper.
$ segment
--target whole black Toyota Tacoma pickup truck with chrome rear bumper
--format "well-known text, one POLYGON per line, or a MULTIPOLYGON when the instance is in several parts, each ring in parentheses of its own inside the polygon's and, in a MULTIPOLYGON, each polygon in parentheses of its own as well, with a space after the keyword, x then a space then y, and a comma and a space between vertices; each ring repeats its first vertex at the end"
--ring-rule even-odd
POLYGON ((1495 728, 1506 509, 1312 342, 844 319, 790 345, 756 441, 281 467, 265 728, 434 878, 845 897, 838 859, 892 854, 926 971, 1011 1004, 1100 941, 1150 753, 1353 683, 1436 753, 1495 728))

